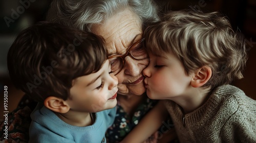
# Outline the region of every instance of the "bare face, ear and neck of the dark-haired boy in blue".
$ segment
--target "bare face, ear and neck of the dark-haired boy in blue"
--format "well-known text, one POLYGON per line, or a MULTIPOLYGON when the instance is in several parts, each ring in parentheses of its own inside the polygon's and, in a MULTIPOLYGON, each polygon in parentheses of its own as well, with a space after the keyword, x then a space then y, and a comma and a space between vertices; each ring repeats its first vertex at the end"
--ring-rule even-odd
POLYGON ((93 124, 90 113, 114 108, 117 104, 117 78, 110 74, 106 60, 99 71, 73 80, 71 98, 66 101, 55 97, 45 100, 45 106, 64 122, 73 126, 93 124))

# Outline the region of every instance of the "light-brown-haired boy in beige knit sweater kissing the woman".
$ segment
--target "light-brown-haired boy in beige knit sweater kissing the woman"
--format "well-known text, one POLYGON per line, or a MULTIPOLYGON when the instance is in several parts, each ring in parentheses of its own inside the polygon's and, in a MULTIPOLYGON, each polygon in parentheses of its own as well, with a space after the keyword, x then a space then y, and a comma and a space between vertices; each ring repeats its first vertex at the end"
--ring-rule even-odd
POLYGON ((166 109, 180 142, 256 142, 256 101, 229 85, 243 78, 247 54, 227 18, 218 12, 170 11, 144 35, 150 56, 143 70, 147 96, 164 104, 123 142, 150 136, 166 109))

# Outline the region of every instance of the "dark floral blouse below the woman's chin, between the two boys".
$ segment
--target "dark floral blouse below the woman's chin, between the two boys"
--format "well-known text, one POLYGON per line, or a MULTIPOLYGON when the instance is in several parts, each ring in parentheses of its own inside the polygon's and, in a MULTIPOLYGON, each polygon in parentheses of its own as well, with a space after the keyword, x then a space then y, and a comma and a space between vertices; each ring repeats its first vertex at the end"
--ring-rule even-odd
POLYGON ((130 116, 117 103, 114 124, 106 132, 107 142, 120 142, 141 120, 141 118, 157 104, 157 100, 146 98, 130 116))

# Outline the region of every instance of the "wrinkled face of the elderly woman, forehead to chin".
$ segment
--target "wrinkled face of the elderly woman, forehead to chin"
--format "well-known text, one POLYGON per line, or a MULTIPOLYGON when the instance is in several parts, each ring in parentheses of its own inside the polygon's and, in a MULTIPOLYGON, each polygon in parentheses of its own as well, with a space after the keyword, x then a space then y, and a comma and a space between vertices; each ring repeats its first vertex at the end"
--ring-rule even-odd
MULTIPOLYGON (((142 39, 142 25, 139 17, 129 10, 124 10, 106 20, 103 25, 96 25, 92 32, 105 39, 110 55, 125 54, 129 47, 142 39)), ((118 93, 123 95, 138 95, 145 92, 142 70, 148 65, 148 60, 135 60, 130 56, 124 58, 124 66, 118 78, 118 93)))

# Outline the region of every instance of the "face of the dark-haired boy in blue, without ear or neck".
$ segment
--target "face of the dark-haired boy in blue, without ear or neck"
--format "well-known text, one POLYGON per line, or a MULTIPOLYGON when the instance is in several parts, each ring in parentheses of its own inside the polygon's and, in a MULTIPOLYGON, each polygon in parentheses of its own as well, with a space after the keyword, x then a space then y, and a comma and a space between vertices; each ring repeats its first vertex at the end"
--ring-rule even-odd
POLYGON ((70 89, 71 100, 67 102, 72 110, 82 112, 98 112, 116 106, 117 78, 111 71, 109 60, 106 60, 96 73, 82 76, 74 81, 70 89))

